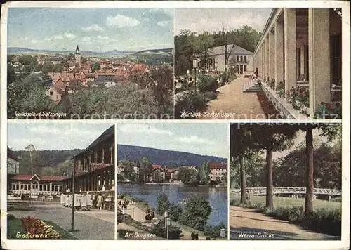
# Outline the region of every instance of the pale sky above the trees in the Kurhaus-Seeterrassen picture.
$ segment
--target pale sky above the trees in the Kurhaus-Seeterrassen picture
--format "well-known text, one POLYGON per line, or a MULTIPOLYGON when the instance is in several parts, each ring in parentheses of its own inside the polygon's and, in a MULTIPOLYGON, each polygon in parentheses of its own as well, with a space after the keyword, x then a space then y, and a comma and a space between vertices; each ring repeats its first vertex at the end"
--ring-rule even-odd
POLYGON ((228 30, 244 25, 262 32, 272 8, 178 8, 175 13, 176 34, 190 29, 198 34, 219 32, 223 23, 228 30))

